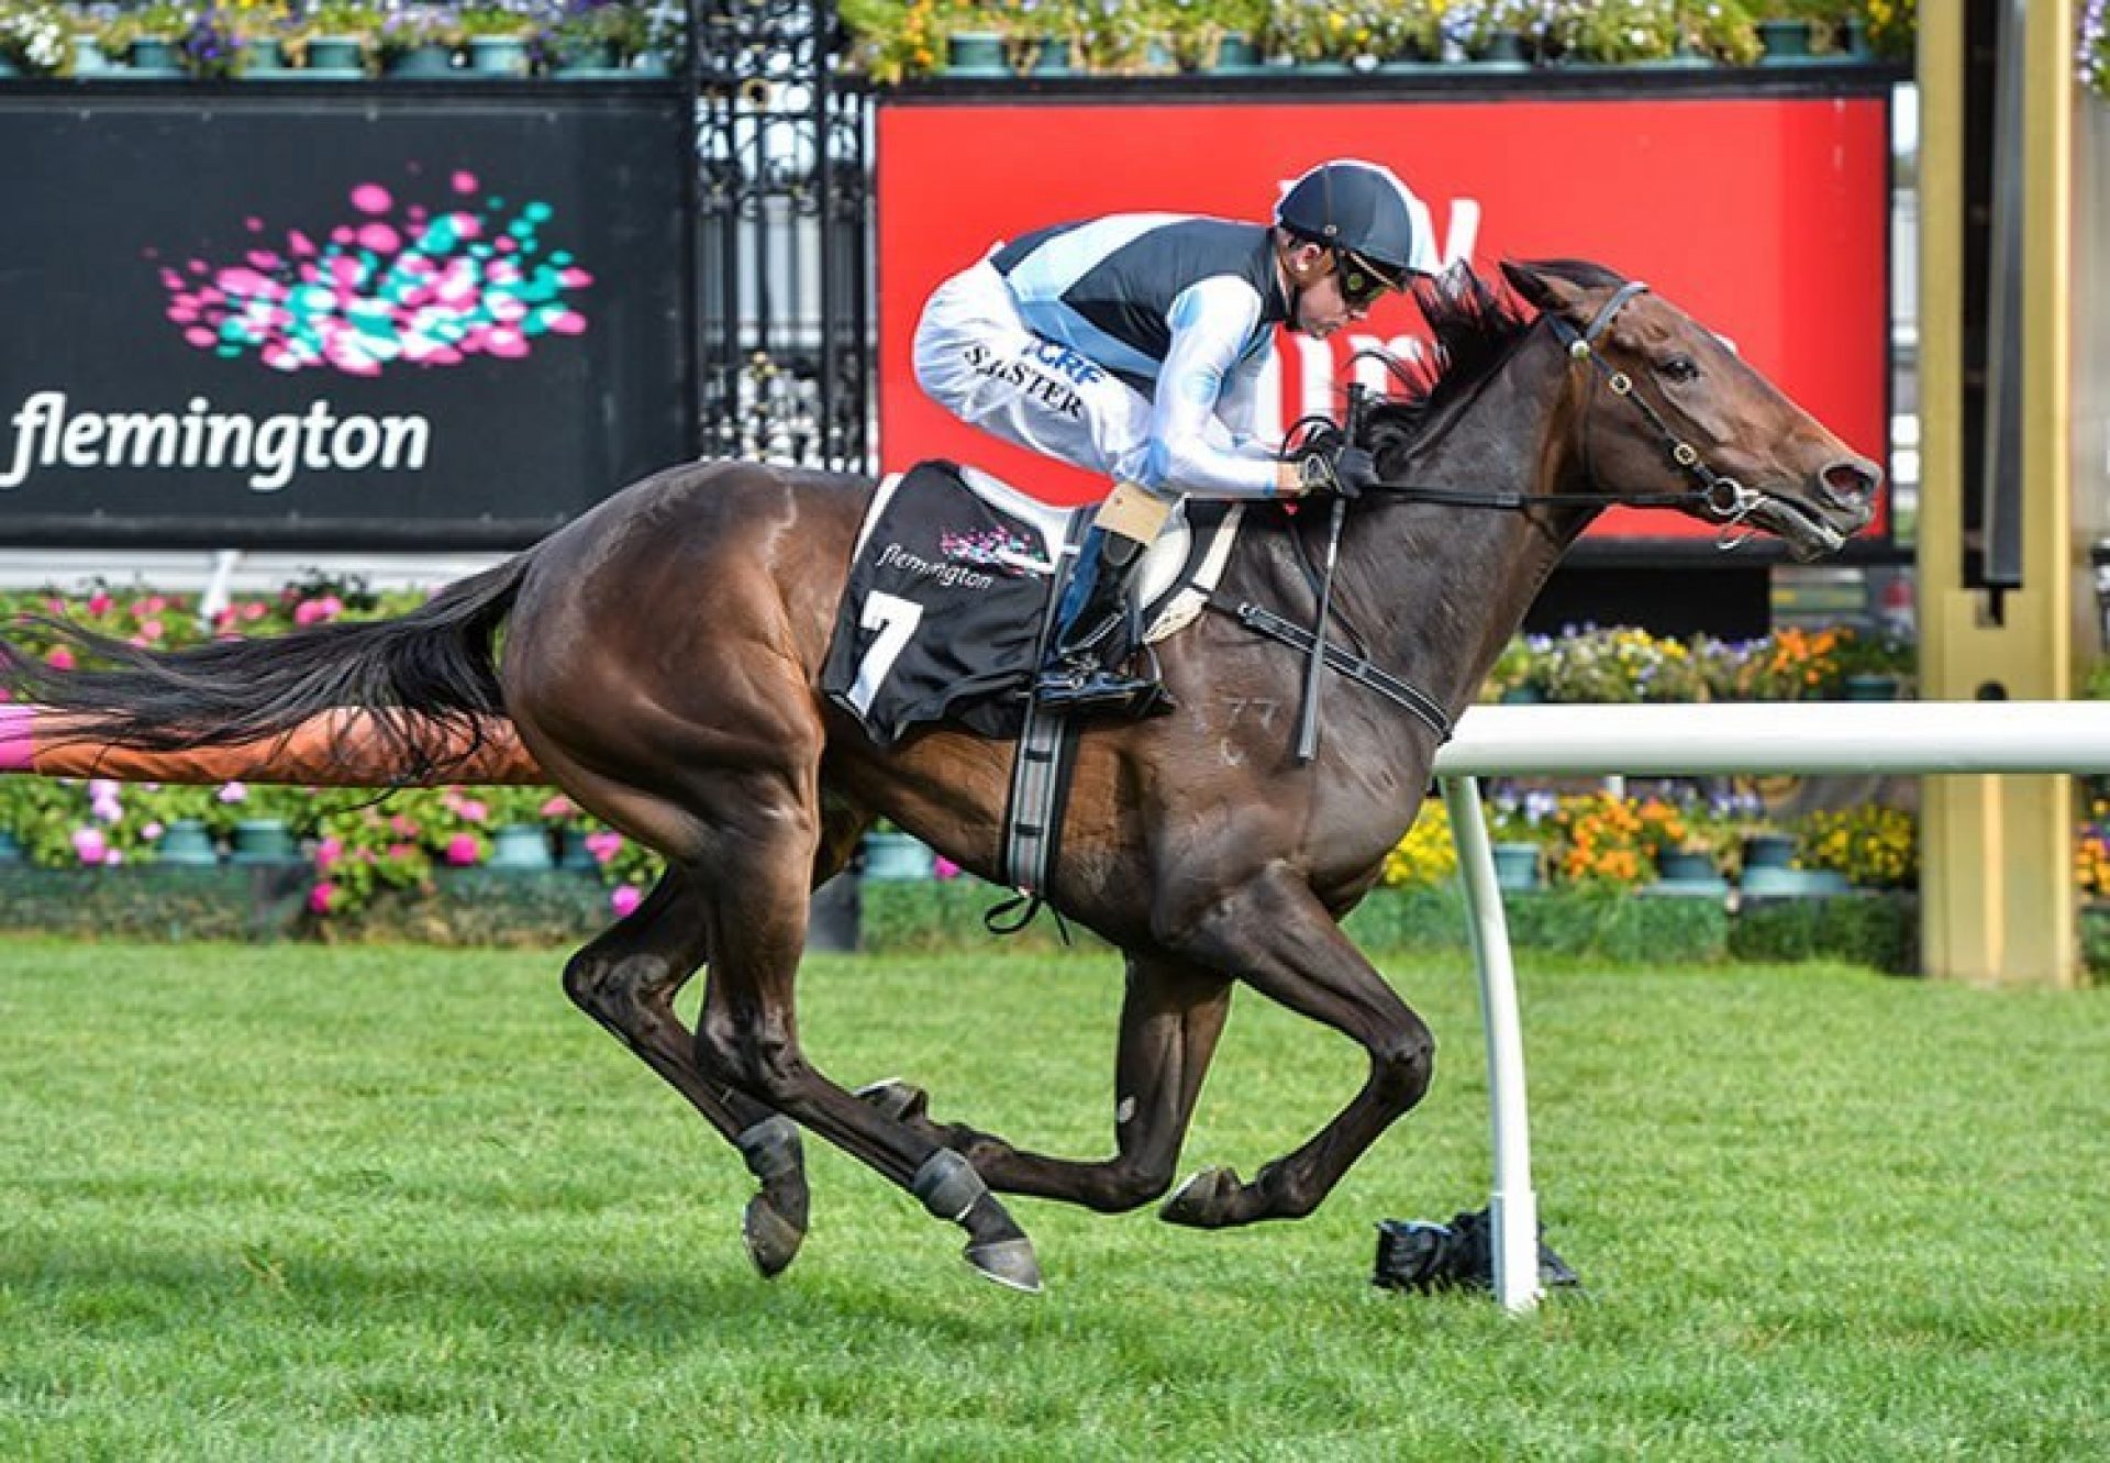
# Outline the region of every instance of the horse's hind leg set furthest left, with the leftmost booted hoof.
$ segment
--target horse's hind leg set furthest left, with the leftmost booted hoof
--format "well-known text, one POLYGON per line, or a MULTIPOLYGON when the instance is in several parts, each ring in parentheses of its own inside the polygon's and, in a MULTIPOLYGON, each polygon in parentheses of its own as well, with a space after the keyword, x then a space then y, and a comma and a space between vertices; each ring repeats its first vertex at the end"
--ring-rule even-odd
POLYGON ((806 1237, 806 1167, 798 1127, 696 1070, 694 1037, 675 1015, 673 999, 705 956, 705 906, 686 876, 669 870, 622 923, 572 956, 563 967, 563 988, 747 1159, 762 1180, 743 1218, 747 1254, 764 1275, 776 1275, 791 1265, 806 1237))

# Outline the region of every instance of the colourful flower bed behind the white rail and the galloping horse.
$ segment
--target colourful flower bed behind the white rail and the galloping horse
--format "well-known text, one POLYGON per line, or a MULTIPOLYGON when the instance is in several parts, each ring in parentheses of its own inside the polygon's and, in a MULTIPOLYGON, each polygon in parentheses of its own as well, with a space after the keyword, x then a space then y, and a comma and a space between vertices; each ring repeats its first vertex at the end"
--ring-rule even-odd
MULTIPOLYGON (((55 646, 34 616, 68 619, 129 644, 173 648, 215 635, 395 616, 422 600, 422 593, 371 593, 359 581, 306 578, 276 593, 236 597, 200 619, 192 595, 99 587, 78 595, 0 595, 0 621, 8 623, 8 633, 19 644, 65 665, 68 652, 55 646)), ((1903 642, 1863 638, 1857 631, 1794 629, 1743 646, 1722 646, 1705 640, 1665 642, 1635 629, 1593 629, 1557 640, 1515 642, 1498 678, 1509 676, 1511 684, 1530 678, 1542 690, 1564 695, 1589 688, 1606 699, 1667 699, 1673 690, 1713 695, 1715 688, 1794 697, 1834 690, 1857 665, 1907 663, 1910 646, 1903 642), (1564 659, 1561 673, 1534 669, 1564 659)), ((2091 684, 2110 690, 2110 676, 2097 676, 2091 684)), ((2089 781, 2085 787, 2091 813, 2078 830, 2074 878, 2085 897, 2110 899, 2110 785, 2089 781)), ((1834 872, 1857 889, 1876 891, 1910 891, 1918 882, 1918 830, 1907 809, 1863 804, 1777 819, 1766 815, 1747 785, 1718 781, 1663 783, 1656 792, 1633 798, 1572 785, 1494 783, 1488 811, 1496 842, 1538 847, 1538 870, 1551 878, 1555 893, 1620 895, 1648 889, 1675 853, 1703 855, 1713 876, 1737 880, 1745 842, 1768 830, 1794 838, 1794 861, 1804 872, 1834 872)), ((563 901, 597 891, 589 899, 591 908, 580 914, 589 929, 612 912, 635 908, 658 876, 656 855, 599 825, 555 790, 435 787, 376 800, 359 790, 238 783, 156 787, 0 777, 0 834, 13 838, 21 857, 42 870, 110 872, 150 866, 162 859, 169 834, 179 825, 203 828, 205 838, 226 853, 236 825, 260 819, 285 823, 304 870, 302 916, 325 937, 352 931, 359 920, 380 918, 367 910, 407 910, 430 901, 462 870, 490 870, 502 828, 540 830, 546 853, 570 861, 574 878, 561 882, 563 901)), ((867 899, 867 937, 882 948, 899 948, 899 942, 926 937, 912 931, 933 929, 933 920, 918 914, 890 933, 888 910, 895 899, 939 901, 964 923, 979 920, 987 889, 977 880, 943 878, 958 872, 943 859, 937 868, 937 880, 901 880, 907 889, 867 899), (973 918, 966 918, 968 910, 973 918)), ((1447 813, 1433 798, 1386 857, 1382 882, 1395 891, 1426 893, 1452 889, 1454 876, 1447 813)), ((1709 893, 1709 887, 1696 880, 1688 891, 1709 893)), ((418 916, 424 918, 428 916, 418 916)), ((186 925, 184 918, 175 923, 186 925)), ((462 920, 445 916, 439 923, 462 920)))

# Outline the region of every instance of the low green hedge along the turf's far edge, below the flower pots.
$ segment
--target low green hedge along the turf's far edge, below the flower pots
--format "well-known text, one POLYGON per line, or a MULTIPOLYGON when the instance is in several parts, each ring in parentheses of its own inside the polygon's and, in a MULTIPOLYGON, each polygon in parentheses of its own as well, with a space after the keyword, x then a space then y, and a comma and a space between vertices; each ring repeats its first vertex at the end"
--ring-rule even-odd
MULTIPOLYGON (((306 866, 44 870, 0 866, 0 929, 112 939, 329 939, 352 944, 576 948, 612 923, 608 889, 591 874, 447 870, 428 891, 384 893, 348 916, 306 910, 306 866)), ((1017 935, 983 916, 1009 893, 977 878, 865 880, 855 891, 859 948, 884 954, 958 950, 1082 950, 1106 954, 1070 927, 1063 946, 1042 910, 1017 935)), ((1509 937, 1523 952, 1650 969, 1720 961, 1834 958, 1884 971, 1918 967, 1918 904, 1910 895, 1762 899, 1737 916, 1720 899, 1604 895, 1574 889, 1507 897, 1509 937)), ((1380 889, 1346 923, 1363 950, 1471 948, 1458 889, 1380 889)), ((2083 912, 2087 969, 2110 971, 2110 910, 2083 912)))

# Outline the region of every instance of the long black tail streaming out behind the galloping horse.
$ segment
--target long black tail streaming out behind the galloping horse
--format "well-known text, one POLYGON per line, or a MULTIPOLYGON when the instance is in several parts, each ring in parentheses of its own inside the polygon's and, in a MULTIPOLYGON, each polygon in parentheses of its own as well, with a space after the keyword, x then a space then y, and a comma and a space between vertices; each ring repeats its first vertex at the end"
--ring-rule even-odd
POLYGON ((384 764, 390 783, 439 781, 473 762, 492 726, 504 726, 496 638, 532 557, 454 583, 390 621, 186 650, 146 650, 40 621, 95 669, 55 669, 0 640, 0 684, 46 707, 65 741, 148 754, 268 745, 312 718, 363 709, 346 726, 380 747, 361 747, 361 762, 384 764))

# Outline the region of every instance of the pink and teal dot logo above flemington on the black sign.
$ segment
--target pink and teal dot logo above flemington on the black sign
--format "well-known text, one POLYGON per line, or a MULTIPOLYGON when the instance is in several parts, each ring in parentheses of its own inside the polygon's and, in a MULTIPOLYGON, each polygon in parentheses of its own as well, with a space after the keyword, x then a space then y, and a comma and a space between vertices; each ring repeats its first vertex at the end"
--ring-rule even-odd
MULTIPOLYGON (((169 321, 198 350, 344 376, 521 359, 544 336, 584 334, 574 296, 593 274, 544 249, 555 209, 509 213, 504 198, 479 196, 473 173, 454 173, 447 188, 454 205, 433 211, 359 184, 352 217, 321 243, 287 230, 279 249, 253 247, 238 264, 162 266, 169 321)), ((247 228, 264 234, 262 220, 247 228)))

